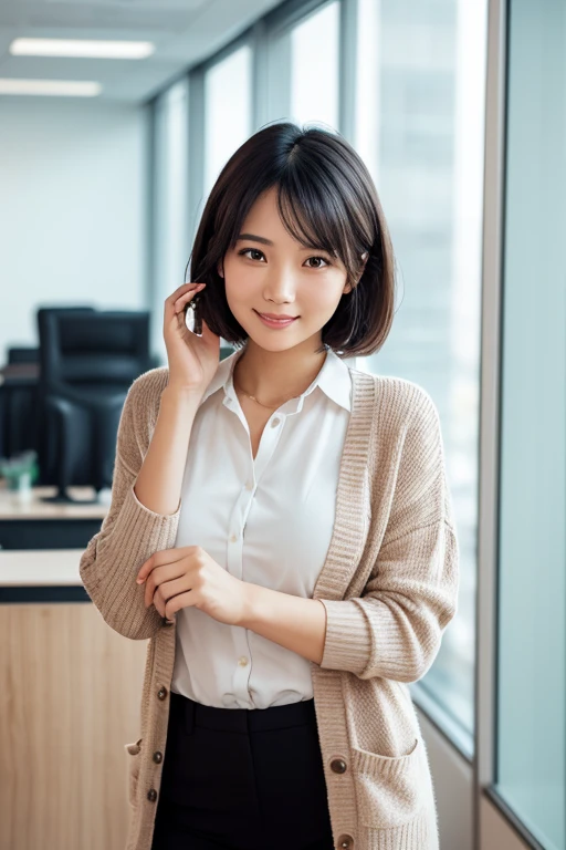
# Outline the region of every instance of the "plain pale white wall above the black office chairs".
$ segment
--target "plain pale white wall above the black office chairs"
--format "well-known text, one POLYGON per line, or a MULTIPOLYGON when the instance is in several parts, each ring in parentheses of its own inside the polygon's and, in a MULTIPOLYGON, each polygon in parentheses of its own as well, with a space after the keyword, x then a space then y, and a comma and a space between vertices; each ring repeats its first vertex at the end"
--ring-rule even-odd
POLYGON ((146 107, 0 97, 0 364, 38 305, 147 304, 146 107))

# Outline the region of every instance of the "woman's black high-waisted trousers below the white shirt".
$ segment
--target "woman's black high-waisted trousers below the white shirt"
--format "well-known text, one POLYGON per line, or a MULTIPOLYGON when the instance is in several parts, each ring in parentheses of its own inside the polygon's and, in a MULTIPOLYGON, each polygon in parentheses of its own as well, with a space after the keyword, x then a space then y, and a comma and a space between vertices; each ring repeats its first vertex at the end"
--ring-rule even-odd
POLYGON ((333 850, 314 699, 170 698, 151 850, 333 850))

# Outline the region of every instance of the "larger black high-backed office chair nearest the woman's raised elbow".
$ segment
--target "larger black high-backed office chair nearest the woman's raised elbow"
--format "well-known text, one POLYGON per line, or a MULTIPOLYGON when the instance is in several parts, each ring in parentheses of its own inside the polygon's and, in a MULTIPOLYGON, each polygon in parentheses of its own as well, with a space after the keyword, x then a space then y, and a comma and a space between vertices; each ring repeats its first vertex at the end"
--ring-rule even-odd
POLYGON ((43 308, 38 326, 39 484, 57 487, 44 501, 77 502, 67 487, 112 487, 127 391, 153 365, 149 312, 43 308))

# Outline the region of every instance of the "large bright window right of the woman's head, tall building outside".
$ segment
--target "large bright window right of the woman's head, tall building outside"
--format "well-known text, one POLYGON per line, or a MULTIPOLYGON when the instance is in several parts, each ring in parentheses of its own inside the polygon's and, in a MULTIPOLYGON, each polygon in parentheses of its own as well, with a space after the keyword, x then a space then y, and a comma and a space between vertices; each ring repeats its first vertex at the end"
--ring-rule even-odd
POLYGON ((459 612, 416 696, 473 751, 486 3, 358 0, 354 145, 380 195, 398 299, 378 374, 441 417, 461 558, 459 612))

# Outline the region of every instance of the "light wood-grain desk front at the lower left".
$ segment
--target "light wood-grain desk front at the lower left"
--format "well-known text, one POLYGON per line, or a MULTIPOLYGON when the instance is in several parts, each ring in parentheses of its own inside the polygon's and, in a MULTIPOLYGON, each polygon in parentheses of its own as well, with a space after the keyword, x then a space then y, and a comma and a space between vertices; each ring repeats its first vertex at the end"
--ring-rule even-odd
POLYGON ((0 848, 123 850, 148 641, 56 602, 0 604, 0 848))

